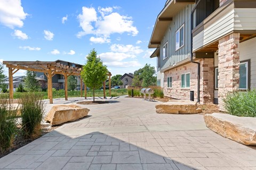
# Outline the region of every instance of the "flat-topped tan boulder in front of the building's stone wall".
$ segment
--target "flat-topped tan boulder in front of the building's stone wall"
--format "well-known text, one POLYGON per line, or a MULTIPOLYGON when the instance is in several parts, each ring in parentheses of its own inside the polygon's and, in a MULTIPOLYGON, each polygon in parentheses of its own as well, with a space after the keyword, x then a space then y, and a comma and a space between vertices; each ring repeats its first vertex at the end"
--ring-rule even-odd
POLYGON ((156 113, 196 114, 201 112, 202 109, 197 108, 196 101, 169 100, 166 103, 156 105, 156 113))

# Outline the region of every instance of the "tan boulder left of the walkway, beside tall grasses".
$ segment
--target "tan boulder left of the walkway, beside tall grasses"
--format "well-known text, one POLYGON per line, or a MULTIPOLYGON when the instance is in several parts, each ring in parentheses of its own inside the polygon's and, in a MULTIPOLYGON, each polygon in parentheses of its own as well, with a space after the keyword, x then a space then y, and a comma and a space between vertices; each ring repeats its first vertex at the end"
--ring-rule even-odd
POLYGON ((51 111, 46 115, 45 121, 49 121, 51 125, 76 121, 79 118, 87 116, 89 111, 89 109, 77 105, 53 106, 51 111))

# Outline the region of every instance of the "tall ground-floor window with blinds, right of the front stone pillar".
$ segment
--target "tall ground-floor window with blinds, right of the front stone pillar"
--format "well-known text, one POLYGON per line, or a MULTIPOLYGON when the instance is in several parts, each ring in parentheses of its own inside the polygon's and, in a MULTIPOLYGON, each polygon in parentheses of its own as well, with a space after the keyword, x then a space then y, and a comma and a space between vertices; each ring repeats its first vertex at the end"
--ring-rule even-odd
POLYGON ((248 62, 239 65, 239 89, 248 89, 248 62))

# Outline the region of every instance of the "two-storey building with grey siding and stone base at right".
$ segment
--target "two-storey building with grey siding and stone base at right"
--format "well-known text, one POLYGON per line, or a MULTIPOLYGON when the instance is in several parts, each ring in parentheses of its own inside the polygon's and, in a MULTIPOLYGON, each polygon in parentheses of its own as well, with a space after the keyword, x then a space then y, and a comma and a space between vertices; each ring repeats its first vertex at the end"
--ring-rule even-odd
POLYGON ((164 95, 212 102, 256 88, 256 1, 168 0, 149 48, 164 95))

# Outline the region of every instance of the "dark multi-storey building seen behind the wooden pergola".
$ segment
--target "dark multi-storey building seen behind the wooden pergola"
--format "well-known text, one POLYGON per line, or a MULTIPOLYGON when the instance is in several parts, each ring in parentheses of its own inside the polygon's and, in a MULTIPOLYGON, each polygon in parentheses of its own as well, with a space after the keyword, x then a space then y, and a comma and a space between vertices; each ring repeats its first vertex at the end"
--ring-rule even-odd
MULTIPOLYGON (((63 65, 67 65, 67 66, 78 67, 78 68, 83 67, 83 65, 81 65, 81 64, 71 63, 71 62, 62 61, 62 60, 57 60, 55 62, 63 64, 63 65)), ((44 79, 47 82, 47 77, 44 75, 44 73, 36 72, 36 76, 38 78, 44 79)), ((44 87, 47 87, 47 83, 44 84, 44 86, 42 86, 42 88, 44 88, 44 87)), ((57 89, 57 90, 65 89, 65 78, 64 78, 64 75, 62 75, 62 74, 55 74, 52 77, 52 87, 57 89)), ((81 88, 80 87, 80 79, 78 78, 77 79, 77 90, 79 90, 80 88, 81 88)))

